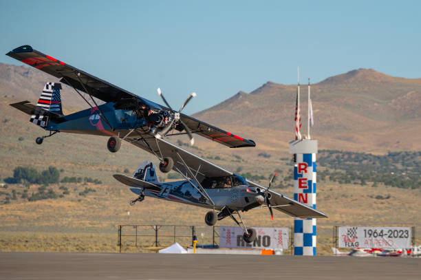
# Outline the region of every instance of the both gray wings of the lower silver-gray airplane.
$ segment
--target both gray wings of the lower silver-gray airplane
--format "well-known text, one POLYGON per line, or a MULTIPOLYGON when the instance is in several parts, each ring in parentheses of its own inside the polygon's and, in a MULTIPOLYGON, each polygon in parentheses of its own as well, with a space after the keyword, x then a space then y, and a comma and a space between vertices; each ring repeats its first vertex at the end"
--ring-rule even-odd
MULTIPOLYGON (((137 147, 148 151, 149 153, 155 154, 158 156, 158 158, 173 158, 173 170, 183 173, 186 177, 190 177, 186 169, 186 166, 188 166, 191 172, 197 177, 199 182, 202 182, 205 177, 224 177, 234 175, 233 172, 228 171, 221 166, 217 166, 208 160, 200 158, 199 156, 163 139, 143 138, 142 140, 139 140, 134 138, 128 141, 137 147)), ((255 186, 262 190, 266 189, 266 187, 250 180, 247 180, 247 182, 250 184, 250 186, 255 186)), ((272 204, 272 208, 282 211, 283 213, 293 217, 327 217, 325 213, 311 208, 310 206, 306 206, 305 204, 301 204, 296 200, 285 197, 280 193, 272 190, 269 190, 269 192, 272 195, 270 198, 270 204, 272 204)))

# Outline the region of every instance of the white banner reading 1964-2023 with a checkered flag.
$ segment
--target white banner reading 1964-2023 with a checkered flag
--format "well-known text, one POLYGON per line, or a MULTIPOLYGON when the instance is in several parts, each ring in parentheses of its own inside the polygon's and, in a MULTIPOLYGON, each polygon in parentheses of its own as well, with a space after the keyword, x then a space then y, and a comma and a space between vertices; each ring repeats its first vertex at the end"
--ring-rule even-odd
POLYGON ((410 248, 411 228, 341 226, 340 248, 410 248))

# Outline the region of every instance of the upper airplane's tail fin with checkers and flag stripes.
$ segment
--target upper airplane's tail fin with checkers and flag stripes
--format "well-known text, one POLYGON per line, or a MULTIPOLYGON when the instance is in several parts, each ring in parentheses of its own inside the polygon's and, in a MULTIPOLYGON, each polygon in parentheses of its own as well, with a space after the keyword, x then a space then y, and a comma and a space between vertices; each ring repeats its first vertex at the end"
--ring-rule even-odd
POLYGON ((30 122, 40 127, 46 127, 49 115, 63 116, 60 89, 62 89, 60 83, 45 83, 30 122))

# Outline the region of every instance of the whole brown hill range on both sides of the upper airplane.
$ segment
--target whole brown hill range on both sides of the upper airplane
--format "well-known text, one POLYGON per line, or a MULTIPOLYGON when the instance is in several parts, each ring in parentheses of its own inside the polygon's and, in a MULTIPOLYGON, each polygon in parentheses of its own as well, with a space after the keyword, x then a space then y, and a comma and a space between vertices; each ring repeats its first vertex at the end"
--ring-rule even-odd
MULTIPOLYGON (((10 103, 35 102, 45 81, 57 80, 32 67, 0 63, 0 96, 10 103)), ((321 140, 321 149, 380 153, 421 150, 421 78, 356 69, 326 78, 312 85, 311 91, 312 138, 321 140)), ((63 87, 62 98, 65 113, 87 107, 71 87, 63 87)), ((294 138, 295 98, 296 85, 268 81, 250 93, 239 91, 193 116, 255 140, 257 149, 285 150, 294 138)), ((301 111, 302 133, 306 134, 307 85, 301 85, 301 111)), ((206 148, 221 148, 197 138, 206 148)))

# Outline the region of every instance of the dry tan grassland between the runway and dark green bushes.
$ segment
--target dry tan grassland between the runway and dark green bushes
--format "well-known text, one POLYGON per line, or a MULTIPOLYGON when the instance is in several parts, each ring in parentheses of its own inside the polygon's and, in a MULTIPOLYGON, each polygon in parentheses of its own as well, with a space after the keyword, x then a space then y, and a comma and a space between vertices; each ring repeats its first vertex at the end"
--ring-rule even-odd
MULTIPOLYGON (((39 191, 40 185, 10 184, 1 189, 17 194, 10 204, 0 205, 0 251, 2 252, 117 252, 118 225, 195 225, 199 242, 210 243, 210 231, 204 225, 206 209, 165 202, 147 197, 135 206, 129 200, 136 195, 122 185, 114 184, 52 184, 47 189, 67 195, 56 199, 28 202, 21 193, 39 191), (84 193, 85 189, 94 189, 84 193), (84 193, 81 195, 80 193, 84 193), (130 215, 127 215, 127 213, 130 215), (204 233, 202 237, 201 233, 204 233)), ((275 189, 292 196, 290 189, 275 189)), ((317 220, 318 254, 330 255, 333 226, 416 226, 421 228, 418 213, 421 206, 420 190, 398 189, 389 186, 319 184, 318 208, 329 218, 317 220), (377 198, 376 198, 377 197, 377 198), (381 197, 381 198, 379 198, 381 197)), ((248 211, 242 215, 248 226, 293 226, 293 219, 275 211, 270 220, 267 209, 248 211)), ((219 226, 235 226, 230 219, 219 221, 219 226)), ((162 233, 162 231, 160 232, 162 233)), ((151 230, 147 234, 151 234, 151 230)), ((172 235, 171 229, 162 233, 172 235)), ((190 235, 184 230, 180 235, 190 235)), ((123 240, 125 241, 125 240, 123 240)), ((126 239, 127 242, 130 238, 126 239)), ((123 248, 123 252, 154 252, 153 238, 138 240, 143 248, 123 248)), ((184 246, 188 237, 177 239, 184 246)), ((172 237, 160 238, 160 246, 172 244, 172 237)), ((290 250, 285 253, 289 253, 290 250)))

